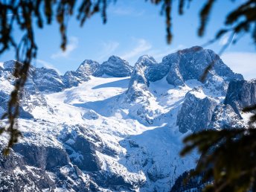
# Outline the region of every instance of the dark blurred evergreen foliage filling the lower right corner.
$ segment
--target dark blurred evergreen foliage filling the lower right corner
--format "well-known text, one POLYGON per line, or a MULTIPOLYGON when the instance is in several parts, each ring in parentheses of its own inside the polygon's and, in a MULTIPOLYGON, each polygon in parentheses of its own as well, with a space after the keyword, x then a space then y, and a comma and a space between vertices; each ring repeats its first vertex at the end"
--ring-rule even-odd
POLYGON ((201 157, 191 176, 203 174, 202 182, 213 180, 204 191, 256 190, 256 106, 243 109, 254 112, 244 129, 205 130, 185 138, 182 156, 193 149, 201 157))

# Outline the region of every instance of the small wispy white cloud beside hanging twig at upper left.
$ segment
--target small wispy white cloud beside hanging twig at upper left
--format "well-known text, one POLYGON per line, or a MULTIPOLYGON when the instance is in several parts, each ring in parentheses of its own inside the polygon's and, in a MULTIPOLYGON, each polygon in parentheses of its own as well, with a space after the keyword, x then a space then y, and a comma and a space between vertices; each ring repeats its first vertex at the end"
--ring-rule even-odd
POLYGON ((74 51, 77 48, 78 45, 78 39, 76 36, 71 36, 68 42, 68 45, 66 45, 65 51, 58 51, 56 54, 52 54, 52 59, 57 58, 68 58, 72 51, 74 51))

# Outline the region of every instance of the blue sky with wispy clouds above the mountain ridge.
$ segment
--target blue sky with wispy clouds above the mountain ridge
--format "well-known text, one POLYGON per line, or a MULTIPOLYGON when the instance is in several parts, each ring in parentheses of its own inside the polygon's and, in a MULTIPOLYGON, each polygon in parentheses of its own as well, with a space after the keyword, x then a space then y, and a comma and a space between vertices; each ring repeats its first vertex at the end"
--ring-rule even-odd
MULTIPOLYGON (((167 54, 193 45, 203 45, 214 37, 226 14, 243 0, 217 1, 211 13, 205 36, 199 38, 196 30, 199 26, 199 10, 202 1, 192 1, 189 9, 185 8, 183 16, 178 15, 178 4, 173 7, 173 42, 167 45, 164 16, 160 15, 161 7, 144 0, 118 0, 107 9, 108 21, 103 25, 100 15, 92 16, 83 28, 80 28, 75 17, 68 22, 68 46, 65 52, 60 50, 60 34, 54 23, 42 30, 36 29, 38 55, 33 65, 56 68, 61 74, 76 70, 83 60, 97 60, 99 63, 111 55, 117 55, 134 65, 138 57, 149 54, 159 62, 167 54)), ((175 1, 176 2, 176 1, 175 1)), ((22 33, 13 33, 17 39, 22 33)), ((218 53, 228 36, 208 46, 218 53)), ((0 61, 14 59, 12 50, 1 55, 0 61)), ((251 79, 256 71, 255 45, 249 35, 243 36, 235 45, 231 45, 222 56, 224 62, 233 71, 240 72, 251 79)))

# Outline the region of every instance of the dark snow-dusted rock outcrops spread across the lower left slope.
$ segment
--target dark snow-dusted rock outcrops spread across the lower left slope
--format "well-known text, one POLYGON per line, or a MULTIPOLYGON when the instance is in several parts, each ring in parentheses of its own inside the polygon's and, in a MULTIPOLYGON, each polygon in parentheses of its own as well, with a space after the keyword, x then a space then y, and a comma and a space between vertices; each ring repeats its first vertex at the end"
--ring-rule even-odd
MULTIPOLYGON (((95 132, 80 127, 64 127, 59 144, 30 132, 35 143, 16 144, 10 156, 0 156, 0 191, 99 191, 96 182, 106 188, 134 187, 123 177, 104 173, 100 169, 96 152, 116 156, 116 152, 105 146, 95 132), (36 138, 35 138, 36 137, 36 138), (44 139, 38 143, 37 139, 44 139), (105 175, 104 175, 105 174, 105 175), (102 176, 105 176, 103 179, 102 176), (107 178, 107 179, 106 179, 107 178), (116 185, 119 184, 119 187, 116 185), (29 187, 28 187, 29 186, 29 187)), ((30 140, 31 141, 31 140, 30 140)), ((2 145, 0 145, 2 150, 2 145)))

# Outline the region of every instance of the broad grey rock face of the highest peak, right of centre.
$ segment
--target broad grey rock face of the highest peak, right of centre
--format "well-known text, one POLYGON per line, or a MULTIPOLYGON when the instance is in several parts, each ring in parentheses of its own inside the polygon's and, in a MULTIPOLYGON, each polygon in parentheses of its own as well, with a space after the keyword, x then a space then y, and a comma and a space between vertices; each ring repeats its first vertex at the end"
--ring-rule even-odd
MULTIPOLYGON (((243 76, 241 74, 234 74, 214 51, 203 49, 199 46, 170 54, 163 58, 162 63, 170 65, 170 71, 167 75, 168 83, 180 86, 186 80, 200 80, 205 68, 214 60, 211 74, 223 77, 223 80, 228 81, 243 80, 243 76)), ((206 80, 213 81, 211 77, 212 75, 208 75, 206 80)))

